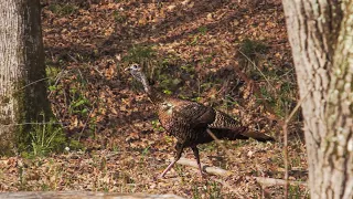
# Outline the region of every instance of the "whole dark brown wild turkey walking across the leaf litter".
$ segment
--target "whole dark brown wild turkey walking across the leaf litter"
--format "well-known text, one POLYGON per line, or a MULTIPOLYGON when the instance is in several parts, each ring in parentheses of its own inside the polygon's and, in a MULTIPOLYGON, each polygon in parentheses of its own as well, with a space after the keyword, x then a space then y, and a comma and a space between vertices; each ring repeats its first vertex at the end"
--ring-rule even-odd
POLYGON ((142 83, 145 92, 157 106, 161 125, 170 135, 178 139, 174 160, 164 169, 160 177, 164 177, 174 166, 185 147, 191 147, 193 150, 202 175, 197 145, 214 140, 207 130, 211 130, 218 139, 235 140, 252 137, 259 142, 275 140, 268 135, 249 132, 240 122, 223 112, 196 102, 165 96, 153 91, 138 64, 131 64, 126 71, 129 71, 136 80, 142 83))

